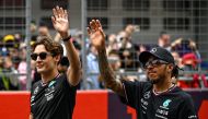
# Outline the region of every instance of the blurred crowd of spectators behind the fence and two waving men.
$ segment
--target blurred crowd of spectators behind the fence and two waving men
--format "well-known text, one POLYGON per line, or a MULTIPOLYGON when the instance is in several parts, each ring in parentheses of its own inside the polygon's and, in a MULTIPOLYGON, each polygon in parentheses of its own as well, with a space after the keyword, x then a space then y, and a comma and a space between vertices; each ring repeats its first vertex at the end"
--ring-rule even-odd
MULTIPOLYGON (((138 56, 141 51, 149 50, 152 47, 160 46, 166 48, 175 58, 176 64, 184 72, 178 79, 173 79, 183 88, 208 87, 206 73, 199 73, 204 60, 194 39, 180 37, 172 39, 166 32, 161 32, 155 39, 158 44, 138 44, 139 40, 132 39, 132 34, 137 34, 139 27, 129 24, 118 33, 112 33, 106 36, 106 50, 109 64, 116 72, 116 76, 125 76, 125 79, 135 81, 147 81, 142 66, 140 66, 138 56), (203 82, 201 82, 203 81, 203 82)), ((31 23, 32 39, 31 45, 38 40, 38 36, 46 35, 54 40, 61 43, 59 34, 53 37, 48 26, 41 22, 38 26, 35 22, 31 23)), ((83 32, 76 31, 71 33, 73 44, 82 60, 82 46, 84 43, 88 49, 86 53, 86 72, 85 79, 79 85, 80 90, 101 90, 105 88, 103 80, 99 71, 97 51, 91 45, 89 38, 82 40, 83 32)), ((20 33, 8 34, 0 37, 0 90, 26 90, 26 44, 25 36, 20 33)), ((62 45, 63 46, 63 45, 62 45)), ((70 66, 66 51, 59 62, 58 69, 60 73, 65 73, 70 66)), ((41 80, 41 75, 35 71, 33 61, 31 61, 33 83, 41 80)), ((205 68, 207 70, 208 68, 205 68)), ((204 70, 204 69, 203 69, 204 70)))

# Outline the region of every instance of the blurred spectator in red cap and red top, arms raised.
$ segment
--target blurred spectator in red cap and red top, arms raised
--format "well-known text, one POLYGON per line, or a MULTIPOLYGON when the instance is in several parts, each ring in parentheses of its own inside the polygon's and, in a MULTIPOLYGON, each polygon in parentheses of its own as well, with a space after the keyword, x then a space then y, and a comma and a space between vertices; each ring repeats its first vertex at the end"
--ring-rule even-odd
POLYGON ((178 38, 172 43, 172 50, 178 52, 182 59, 182 68, 187 73, 183 76, 190 79, 189 81, 180 81, 181 87, 200 87, 199 76, 196 72, 200 67, 200 53, 196 47, 196 43, 193 39, 178 38))

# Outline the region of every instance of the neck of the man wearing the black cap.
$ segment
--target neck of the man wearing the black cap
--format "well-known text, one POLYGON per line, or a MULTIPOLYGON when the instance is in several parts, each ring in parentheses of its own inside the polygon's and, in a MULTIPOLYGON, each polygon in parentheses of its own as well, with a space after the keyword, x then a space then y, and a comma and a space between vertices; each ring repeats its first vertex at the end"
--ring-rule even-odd
POLYGON ((173 83, 171 82, 171 78, 170 78, 170 79, 165 79, 163 82, 159 82, 157 84, 153 84, 153 90, 155 92, 165 92, 172 85, 173 85, 173 83))

